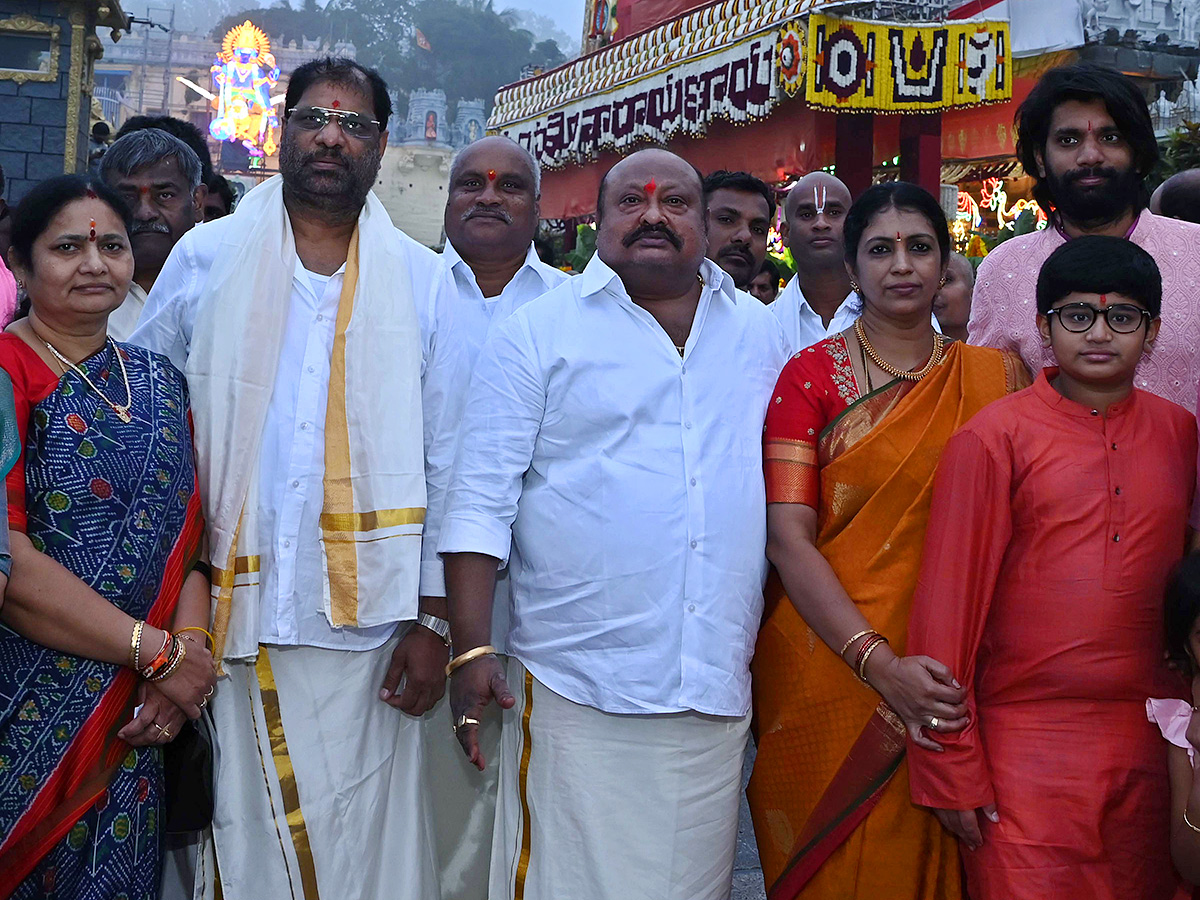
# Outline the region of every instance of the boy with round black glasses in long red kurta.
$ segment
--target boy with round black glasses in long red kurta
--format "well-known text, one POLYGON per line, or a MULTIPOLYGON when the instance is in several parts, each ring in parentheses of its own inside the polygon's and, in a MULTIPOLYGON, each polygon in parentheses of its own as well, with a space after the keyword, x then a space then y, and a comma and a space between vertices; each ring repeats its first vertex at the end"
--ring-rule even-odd
MULTIPOLYGON (((1169 298, 1169 302, 1186 302, 1169 298)), ((946 445, 908 652, 942 660, 971 722, 910 742, 914 803, 959 836, 973 900, 1166 900, 1166 754, 1150 696, 1182 557, 1195 418, 1133 386, 1159 326, 1154 260, 1064 244, 1038 277, 1058 368, 946 445)))

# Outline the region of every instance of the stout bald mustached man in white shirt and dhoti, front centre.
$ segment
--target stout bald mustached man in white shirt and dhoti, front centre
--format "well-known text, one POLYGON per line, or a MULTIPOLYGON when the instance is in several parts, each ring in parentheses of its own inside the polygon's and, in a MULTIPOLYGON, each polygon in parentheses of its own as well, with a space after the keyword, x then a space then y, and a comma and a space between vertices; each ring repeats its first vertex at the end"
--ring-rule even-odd
POLYGON ((475 365, 438 545, 455 724, 484 768, 479 720, 505 709, 490 900, 724 900, 787 347, 704 259, 678 156, 617 163, 598 228, 583 274, 475 365), (488 646, 505 563, 506 676, 488 646))

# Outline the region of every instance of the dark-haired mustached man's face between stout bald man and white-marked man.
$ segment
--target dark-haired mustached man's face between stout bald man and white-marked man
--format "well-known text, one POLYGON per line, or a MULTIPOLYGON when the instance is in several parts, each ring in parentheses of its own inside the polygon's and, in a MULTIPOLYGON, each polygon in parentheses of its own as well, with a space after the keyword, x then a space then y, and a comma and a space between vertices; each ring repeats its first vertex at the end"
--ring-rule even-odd
POLYGON ((775 218, 775 196, 745 172, 714 172, 704 179, 708 205, 708 258, 746 290, 767 258, 767 232, 775 218))

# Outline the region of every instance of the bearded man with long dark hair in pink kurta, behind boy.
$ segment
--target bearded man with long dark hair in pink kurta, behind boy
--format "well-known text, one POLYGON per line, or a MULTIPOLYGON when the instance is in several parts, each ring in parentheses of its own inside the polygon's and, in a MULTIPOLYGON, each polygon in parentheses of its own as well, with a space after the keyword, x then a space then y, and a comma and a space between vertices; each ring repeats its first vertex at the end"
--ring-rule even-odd
POLYGON ((1031 372, 1054 364, 1038 334, 1034 288, 1042 264, 1085 234, 1124 238, 1163 276, 1163 328, 1138 365, 1135 386, 1193 410, 1200 383, 1200 226, 1146 209, 1144 179, 1158 143, 1141 90, 1093 64, 1046 72, 1016 112, 1016 155, 1050 227, 1001 244, 979 266, 972 343, 1010 348, 1031 372))

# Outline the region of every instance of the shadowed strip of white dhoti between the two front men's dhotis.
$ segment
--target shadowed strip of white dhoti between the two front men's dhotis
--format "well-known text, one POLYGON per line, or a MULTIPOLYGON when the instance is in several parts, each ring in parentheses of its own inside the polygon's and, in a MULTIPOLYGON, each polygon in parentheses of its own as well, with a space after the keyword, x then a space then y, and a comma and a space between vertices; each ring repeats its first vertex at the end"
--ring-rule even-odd
POLYGON ((487 760, 482 772, 467 760, 452 721, 448 685, 446 695, 422 719, 442 900, 485 900, 499 781, 500 710, 490 706, 480 720, 479 745, 487 760))

